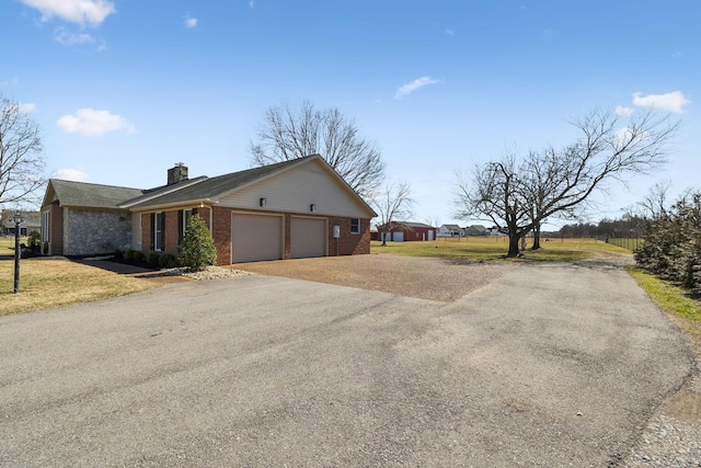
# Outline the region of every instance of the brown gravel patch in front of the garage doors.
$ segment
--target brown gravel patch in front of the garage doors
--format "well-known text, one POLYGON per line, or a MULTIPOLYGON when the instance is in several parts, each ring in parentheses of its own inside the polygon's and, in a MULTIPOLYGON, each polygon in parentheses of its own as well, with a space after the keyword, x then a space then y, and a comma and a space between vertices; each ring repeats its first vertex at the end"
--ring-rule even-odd
POLYGON ((474 262, 404 255, 348 255, 240 263, 233 269, 379 290, 420 299, 453 301, 504 273, 515 262, 474 262))

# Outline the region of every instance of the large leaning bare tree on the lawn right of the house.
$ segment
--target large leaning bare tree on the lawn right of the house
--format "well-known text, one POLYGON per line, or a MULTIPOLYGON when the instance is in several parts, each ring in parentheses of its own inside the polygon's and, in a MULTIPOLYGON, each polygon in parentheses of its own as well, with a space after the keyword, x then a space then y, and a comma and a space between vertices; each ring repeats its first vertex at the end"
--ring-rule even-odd
MULTIPOLYGON (((595 110, 572 123, 582 136, 556 150, 548 148, 476 167, 472 184, 458 180, 457 215, 486 216, 508 232, 507 256, 518 240, 551 217, 574 217, 609 181, 650 173, 666 162, 665 149, 678 124, 646 113, 621 126, 620 117, 595 110)), ((539 242, 535 242, 535 248, 539 242)))

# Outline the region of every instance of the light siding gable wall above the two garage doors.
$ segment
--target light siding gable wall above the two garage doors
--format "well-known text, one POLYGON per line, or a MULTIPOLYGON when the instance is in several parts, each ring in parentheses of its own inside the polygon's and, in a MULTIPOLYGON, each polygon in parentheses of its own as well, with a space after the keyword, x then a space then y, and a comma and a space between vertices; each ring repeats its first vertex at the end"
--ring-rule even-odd
POLYGON ((219 205, 260 210, 265 198, 265 210, 306 215, 333 216, 342 214, 364 218, 369 214, 338 180, 321 163, 302 164, 269 179, 254 183, 219 201, 219 205), (310 206, 314 205, 314 212, 310 206))

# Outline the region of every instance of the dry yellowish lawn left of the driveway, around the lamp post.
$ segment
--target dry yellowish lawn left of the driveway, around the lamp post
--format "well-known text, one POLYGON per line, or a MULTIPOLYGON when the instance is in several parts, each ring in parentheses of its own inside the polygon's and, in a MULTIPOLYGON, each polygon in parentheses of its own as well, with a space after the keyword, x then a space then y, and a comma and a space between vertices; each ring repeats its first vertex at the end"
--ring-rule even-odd
POLYGON ((0 316, 124 296, 160 283, 65 259, 22 259, 20 294, 13 285, 14 259, 0 260, 0 316))

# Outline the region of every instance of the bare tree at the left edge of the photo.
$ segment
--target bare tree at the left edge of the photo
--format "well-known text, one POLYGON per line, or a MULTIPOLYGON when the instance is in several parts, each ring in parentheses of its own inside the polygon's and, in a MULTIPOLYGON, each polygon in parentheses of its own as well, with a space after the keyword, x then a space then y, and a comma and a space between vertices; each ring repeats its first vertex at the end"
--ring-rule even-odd
POLYGON ((39 126, 2 93, 0 112, 0 204, 34 204, 45 182, 39 126))

